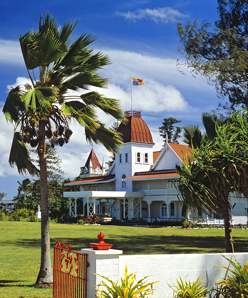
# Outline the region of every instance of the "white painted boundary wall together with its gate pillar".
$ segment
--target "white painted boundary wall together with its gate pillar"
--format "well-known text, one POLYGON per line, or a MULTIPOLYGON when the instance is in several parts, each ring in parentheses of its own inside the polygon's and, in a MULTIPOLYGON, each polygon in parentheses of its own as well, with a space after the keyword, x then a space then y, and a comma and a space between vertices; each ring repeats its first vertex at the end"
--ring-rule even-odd
MULTIPOLYGON (((241 266, 248 260, 248 253, 223 253, 221 254, 149 254, 149 255, 127 255, 122 256, 122 251, 110 249, 108 251, 93 251, 92 249, 82 249, 81 252, 89 254, 88 262, 88 297, 94 298, 94 285, 99 284, 100 275, 108 277, 110 280, 120 280, 123 277, 124 267, 127 264, 128 274, 136 272, 136 279, 145 276, 148 282, 159 281, 154 285, 153 298, 172 298, 173 290, 169 285, 176 283, 180 276, 193 282, 201 274, 200 279, 206 281, 208 289, 215 287, 218 280, 226 276, 227 270, 219 266, 232 267, 223 256, 235 261, 234 256, 241 266), (118 276, 119 274, 119 276, 118 276), (169 285, 168 285, 168 284, 169 285), (93 286, 93 287, 92 287, 93 286)), ((213 295, 212 295, 213 296, 213 295)))

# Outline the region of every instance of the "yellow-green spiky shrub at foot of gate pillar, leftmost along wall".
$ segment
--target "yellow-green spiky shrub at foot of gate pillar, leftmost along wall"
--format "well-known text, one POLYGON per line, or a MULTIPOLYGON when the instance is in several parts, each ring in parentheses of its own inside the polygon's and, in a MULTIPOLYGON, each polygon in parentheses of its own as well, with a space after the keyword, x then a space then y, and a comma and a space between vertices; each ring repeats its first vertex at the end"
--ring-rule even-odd
MULTIPOLYGON (((96 274, 96 275, 103 277, 105 280, 107 280, 109 283, 111 283, 111 286, 110 286, 110 285, 107 285, 104 281, 102 281, 102 284, 96 285, 96 287, 104 286, 106 288, 106 290, 108 291, 108 293, 107 293, 106 291, 102 291, 102 290, 96 288, 97 293, 100 295, 100 297, 103 297, 103 298, 145 297, 145 295, 153 294, 152 285, 154 283, 158 283, 156 281, 154 283, 144 284, 143 280, 148 277, 148 276, 146 276, 146 277, 142 278, 141 280, 139 280, 136 284, 134 284, 134 280, 136 280, 135 273, 131 273, 128 275, 127 265, 125 266, 125 269, 124 269, 124 279, 121 278, 121 283, 119 285, 117 285, 117 283, 113 282, 112 280, 109 280, 107 277, 104 277, 100 274, 96 274), (151 288, 149 288, 149 287, 151 287, 151 288)), ((97 298, 99 298, 99 296, 97 296, 97 298)))

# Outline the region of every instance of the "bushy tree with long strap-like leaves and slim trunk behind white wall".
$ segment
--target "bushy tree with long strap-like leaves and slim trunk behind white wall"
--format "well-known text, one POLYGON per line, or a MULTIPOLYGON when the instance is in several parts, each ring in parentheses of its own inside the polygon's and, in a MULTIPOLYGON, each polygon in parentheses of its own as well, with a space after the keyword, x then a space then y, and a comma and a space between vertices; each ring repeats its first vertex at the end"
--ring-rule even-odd
POLYGON ((234 252, 229 211, 229 193, 247 197, 247 111, 219 119, 202 114, 206 131, 195 125, 183 129, 183 141, 193 148, 192 156, 178 167, 179 190, 183 197, 182 214, 188 209, 209 210, 224 217, 226 252, 234 252))

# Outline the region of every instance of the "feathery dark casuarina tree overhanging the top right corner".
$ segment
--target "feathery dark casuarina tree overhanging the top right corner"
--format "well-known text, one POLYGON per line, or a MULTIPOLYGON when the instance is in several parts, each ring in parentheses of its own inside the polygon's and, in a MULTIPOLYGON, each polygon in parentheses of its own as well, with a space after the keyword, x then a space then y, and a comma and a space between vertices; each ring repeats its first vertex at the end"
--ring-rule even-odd
MULTIPOLYGON (((218 20, 210 23, 178 23, 182 57, 193 75, 213 83, 219 97, 227 98, 230 107, 248 106, 248 2, 218 0, 218 20)), ((226 105, 224 105, 224 108, 226 105)), ((229 107, 229 105, 228 105, 229 107)))

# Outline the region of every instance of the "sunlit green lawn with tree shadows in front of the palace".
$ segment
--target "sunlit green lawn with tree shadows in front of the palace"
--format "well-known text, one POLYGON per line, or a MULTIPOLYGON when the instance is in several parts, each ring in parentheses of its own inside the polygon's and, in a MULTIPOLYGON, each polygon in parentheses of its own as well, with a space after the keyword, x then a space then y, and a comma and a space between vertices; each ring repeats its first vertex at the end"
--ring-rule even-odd
MULTIPOLYGON (((52 289, 35 288, 40 266, 40 223, 0 221, 0 295, 6 298, 51 298, 52 289)), ((138 228, 50 224, 51 257, 56 241, 72 250, 89 248, 101 232, 123 254, 224 253, 224 230, 138 228)), ((247 252, 248 230, 233 230, 235 252, 247 252)), ((89 297, 90 298, 90 297, 89 297)))

